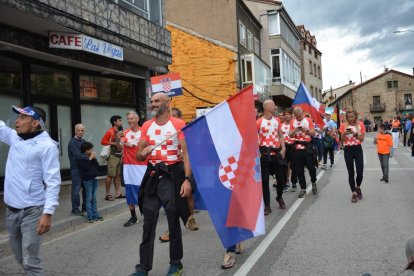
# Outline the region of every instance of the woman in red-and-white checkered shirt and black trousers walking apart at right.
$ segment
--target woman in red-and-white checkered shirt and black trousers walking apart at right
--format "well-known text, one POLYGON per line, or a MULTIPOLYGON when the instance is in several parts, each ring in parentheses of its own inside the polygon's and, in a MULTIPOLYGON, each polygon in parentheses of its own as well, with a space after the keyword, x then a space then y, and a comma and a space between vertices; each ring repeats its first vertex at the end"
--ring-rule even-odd
POLYGON ((341 142, 344 147, 348 182, 352 191, 351 201, 355 203, 362 199, 361 183, 364 172, 364 153, 361 144, 364 141, 365 126, 358 120, 358 112, 355 109, 347 109, 345 118, 346 121, 341 125, 339 132, 342 134, 341 142), (356 179, 354 163, 357 174, 356 179))

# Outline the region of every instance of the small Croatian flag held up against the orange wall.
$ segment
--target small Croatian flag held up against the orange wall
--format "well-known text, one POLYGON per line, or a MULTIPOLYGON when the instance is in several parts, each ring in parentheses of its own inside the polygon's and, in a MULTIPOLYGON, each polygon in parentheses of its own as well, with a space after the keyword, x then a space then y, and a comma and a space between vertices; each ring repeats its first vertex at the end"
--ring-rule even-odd
POLYGON ((164 92, 168 96, 180 96, 183 94, 180 74, 171 73, 151 78, 152 93, 164 92))

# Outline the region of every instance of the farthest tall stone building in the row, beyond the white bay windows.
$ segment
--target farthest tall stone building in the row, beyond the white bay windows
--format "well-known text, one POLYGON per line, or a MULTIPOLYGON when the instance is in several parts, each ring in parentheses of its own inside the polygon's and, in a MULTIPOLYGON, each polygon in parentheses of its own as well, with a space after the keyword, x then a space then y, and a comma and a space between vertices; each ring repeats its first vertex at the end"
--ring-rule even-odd
POLYGON ((317 48, 314 35, 305 26, 297 26, 300 35, 301 79, 311 95, 322 101, 322 53, 317 48))

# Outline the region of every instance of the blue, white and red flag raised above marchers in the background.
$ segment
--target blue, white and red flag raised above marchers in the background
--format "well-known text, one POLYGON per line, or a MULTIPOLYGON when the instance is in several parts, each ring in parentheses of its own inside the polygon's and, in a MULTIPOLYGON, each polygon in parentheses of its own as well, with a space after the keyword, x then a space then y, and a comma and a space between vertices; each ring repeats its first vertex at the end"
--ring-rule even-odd
POLYGON ((293 99, 292 108, 301 107, 304 113, 309 113, 312 119, 320 128, 324 126, 323 123, 323 106, 313 98, 303 82, 300 83, 296 96, 293 99))

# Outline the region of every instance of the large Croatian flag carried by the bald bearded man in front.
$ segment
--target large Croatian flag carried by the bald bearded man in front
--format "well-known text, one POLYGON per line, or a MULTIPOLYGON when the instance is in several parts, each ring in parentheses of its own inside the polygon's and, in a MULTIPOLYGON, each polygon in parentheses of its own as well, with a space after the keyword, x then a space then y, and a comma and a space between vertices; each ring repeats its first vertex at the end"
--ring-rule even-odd
POLYGON ((223 246, 264 234, 252 86, 183 131, 197 188, 223 246))

